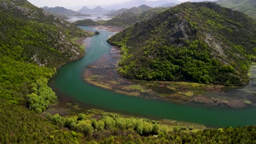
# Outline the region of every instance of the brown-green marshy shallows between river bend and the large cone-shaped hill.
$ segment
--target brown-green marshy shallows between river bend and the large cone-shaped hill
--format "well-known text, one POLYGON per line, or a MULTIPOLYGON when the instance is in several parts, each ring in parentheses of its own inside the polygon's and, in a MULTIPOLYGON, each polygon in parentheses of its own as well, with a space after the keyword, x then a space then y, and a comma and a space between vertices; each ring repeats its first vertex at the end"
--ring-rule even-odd
MULTIPOLYGON (((104 30, 109 29, 102 26, 101 28, 104 30)), ((114 29, 114 31, 116 30, 114 29)), ((253 94, 248 93, 248 87, 250 86, 225 87, 190 82, 125 79, 117 73, 119 59, 120 50, 113 46, 109 53, 106 53, 85 68, 83 79, 91 85, 108 89, 115 93, 146 99, 167 100, 180 104, 200 104, 213 107, 227 106, 232 108, 255 106, 256 104, 253 94), (248 94, 234 94, 237 89, 239 89, 239 92, 248 94)), ((250 72, 253 73, 253 69, 250 72)))

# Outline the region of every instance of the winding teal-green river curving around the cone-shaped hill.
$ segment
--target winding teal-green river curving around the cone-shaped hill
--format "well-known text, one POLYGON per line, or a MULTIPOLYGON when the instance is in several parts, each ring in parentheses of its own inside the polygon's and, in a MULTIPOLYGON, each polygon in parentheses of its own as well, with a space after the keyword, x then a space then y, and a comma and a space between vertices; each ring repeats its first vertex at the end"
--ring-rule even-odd
POLYGON ((231 109, 174 104, 168 101, 148 100, 116 94, 89 85, 82 79, 83 70, 86 65, 110 51, 111 46, 106 40, 113 33, 85 26, 81 26, 81 28, 89 31, 99 31, 101 34, 91 38, 91 43, 86 47, 84 58, 61 67, 57 70, 54 79, 50 81, 51 87, 65 94, 66 97, 97 109, 144 117, 201 123, 210 127, 236 127, 256 124, 255 107, 231 109))

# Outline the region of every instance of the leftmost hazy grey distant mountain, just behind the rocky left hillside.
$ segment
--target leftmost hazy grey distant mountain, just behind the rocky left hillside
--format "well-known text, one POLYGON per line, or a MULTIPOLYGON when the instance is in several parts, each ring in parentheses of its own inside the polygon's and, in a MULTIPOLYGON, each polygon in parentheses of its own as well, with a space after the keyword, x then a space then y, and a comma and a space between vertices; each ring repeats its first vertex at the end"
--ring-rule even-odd
POLYGON ((87 14, 82 14, 77 11, 73 11, 63 7, 55 7, 55 8, 43 7, 42 9, 62 19, 68 19, 68 16, 89 16, 87 14))

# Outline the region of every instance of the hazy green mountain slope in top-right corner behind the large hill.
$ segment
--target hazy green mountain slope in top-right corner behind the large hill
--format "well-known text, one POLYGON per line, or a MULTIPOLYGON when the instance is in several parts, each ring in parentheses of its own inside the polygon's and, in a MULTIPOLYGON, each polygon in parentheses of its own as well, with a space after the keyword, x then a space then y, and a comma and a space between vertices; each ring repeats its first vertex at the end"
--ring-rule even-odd
POLYGON ((256 20, 256 0, 219 0, 216 3, 232 10, 242 11, 256 20))

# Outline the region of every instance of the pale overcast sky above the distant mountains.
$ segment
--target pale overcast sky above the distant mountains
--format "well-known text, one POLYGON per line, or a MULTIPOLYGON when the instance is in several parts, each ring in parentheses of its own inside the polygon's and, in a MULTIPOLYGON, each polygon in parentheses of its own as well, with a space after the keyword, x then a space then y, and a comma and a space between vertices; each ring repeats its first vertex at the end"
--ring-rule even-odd
MULTIPOLYGON (((130 0, 28 0, 30 3, 36 5, 37 7, 73 7, 78 5, 103 5, 103 4, 114 4, 123 3, 130 0)), ((147 1, 157 1, 157 0, 147 0, 147 1)), ((186 0, 179 0, 186 1, 186 0)))

